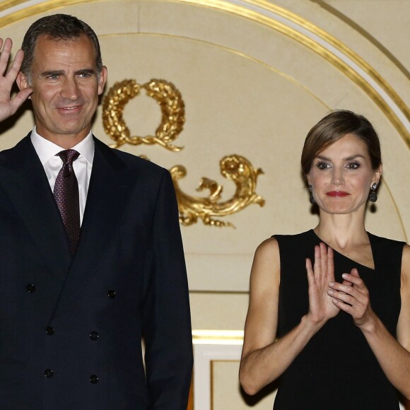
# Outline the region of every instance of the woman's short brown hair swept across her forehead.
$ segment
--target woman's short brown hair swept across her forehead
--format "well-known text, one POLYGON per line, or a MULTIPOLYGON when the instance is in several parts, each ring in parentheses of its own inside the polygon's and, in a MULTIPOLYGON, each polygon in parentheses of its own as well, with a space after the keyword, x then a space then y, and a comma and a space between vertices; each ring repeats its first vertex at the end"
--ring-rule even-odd
POLYGON ((300 158, 304 177, 310 172, 317 154, 346 134, 354 134, 366 144, 373 170, 380 167, 382 163, 380 140, 370 121, 353 111, 334 110, 313 126, 306 136, 300 158))

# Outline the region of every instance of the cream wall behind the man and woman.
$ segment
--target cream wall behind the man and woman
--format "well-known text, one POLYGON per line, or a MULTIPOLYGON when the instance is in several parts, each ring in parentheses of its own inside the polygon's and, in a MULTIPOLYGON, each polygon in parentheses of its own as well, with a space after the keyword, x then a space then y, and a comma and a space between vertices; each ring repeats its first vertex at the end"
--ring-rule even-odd
MULTIPOLYGON (((28 25, 44 14, 40 9, 44 6, 47 13, 71 13, 95 28, 109 69, 107 90, 125 78, 139 83, 163 78, 175 84, 186 110, 185 127, 175 145, 185 148, 180 153, 159 146, 121 149, 145 154, 168 169, 185 165, 188 173, 180 185, 188 194, 197 195, 200 178, 209 177, 223 185, 223 200, 229 199, 234 186, 223 179, 218 165, 228 154, 245 156, 255 168, 264 170, 256 191, 266 204, 262 208, 252 204, 225 217, 235 229, 205 226, 201 221, 182 227, 194 329, 242 329, 255 247, 273 233, 296 233, 317 223, 300 178, 299 158, 308 129, 331 109, 363 113, 382 139, 384 182, 377 211, 368 214, 368 229, 399 240, 409 238, 410 61, 406 39, 410 27, 404 17, 410 13, 409 1, 3 3, 14 8, 0 8, 0 36, 12 37, 16 44, 21 44, 28 25), (259 7, 262 5, 264 8, 259 7), (295 21, 283 17, 287 12, 300 18, 296 23, 302 22, 313 34, 295 34, 295 21), (276 16, 283 18, 281 25, 276 16), (382 85, 391 87, 398 101, 391 104, 393 115, 388 104, 383 108, 366 91, 365 79, 324 55, 321 40, 315 37, 320 33, 317 28, 337 40, 336 54, 348 47, 380 75, 382 85)), ((388 95, 380 93, 382 102, 383 98, 389 101, 388 95)), ((93 131, 110 144, 101 115, 100 107, 93 131)), ((155 101, 142 95, 127 104, 124 119, 133 135, 153 134, 160 110, 155 101)), ((30 112, 24 112, 1 134, 0 148, 16 144, 31 129, 32 121, 30 112)), ((213 409, 248 408, 236 382, 238 361, 214 366, 213 409)), ((211 392, 195 392, 196 397, 201 394, 211 392)), ((269 409, 271 401, 265 398, 254 409, 269 409)))

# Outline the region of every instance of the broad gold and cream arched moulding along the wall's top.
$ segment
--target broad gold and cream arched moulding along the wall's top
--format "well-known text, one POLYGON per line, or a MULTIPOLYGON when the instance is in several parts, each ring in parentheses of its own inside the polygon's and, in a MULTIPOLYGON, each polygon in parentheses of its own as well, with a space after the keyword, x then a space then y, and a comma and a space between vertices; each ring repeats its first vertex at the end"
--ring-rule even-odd
MULTIPOLYGON (((98 0, 8 0, 1 4, 0 27, 52 8, 98 0)), ((341 70, 380 107, 410 148, 410 109, 392 86, 343 42, 267 0, 163 0, 215 8, 233 13, 279 31, 312 49, 341 70)))

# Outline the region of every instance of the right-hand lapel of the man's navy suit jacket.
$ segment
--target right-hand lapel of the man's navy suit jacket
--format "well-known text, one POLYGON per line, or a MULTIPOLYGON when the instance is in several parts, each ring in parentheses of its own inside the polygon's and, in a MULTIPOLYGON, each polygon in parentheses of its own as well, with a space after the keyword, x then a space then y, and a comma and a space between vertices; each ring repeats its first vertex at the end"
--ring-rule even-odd
MULTIPOLYGON (((127 204, 130 186, 122 160, 95 139, 93 171, 88 188, 86 210, 78 248, 61 294, 59 307, 76 294, 98 271, 98 265, 118 228, 122 209, 127 204)), ((135 182, 135 174, 133 175, 135 182)))

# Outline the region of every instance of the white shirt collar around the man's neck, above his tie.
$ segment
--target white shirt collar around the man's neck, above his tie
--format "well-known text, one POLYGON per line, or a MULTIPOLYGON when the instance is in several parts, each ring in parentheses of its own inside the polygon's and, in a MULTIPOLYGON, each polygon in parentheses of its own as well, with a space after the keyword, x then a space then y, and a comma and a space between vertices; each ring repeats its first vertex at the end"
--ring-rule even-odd
MULTIPOLYGON (((35 127, 33 128, 33 131, 31 131, 30 138, 35 148, 35 151, 37 152, 37 155, 40 158, 42 165, 45 165, 45 163, 47 163, 47 161, 50 158, 56 156, 57 153, 65 149, 61 148, 61 146, 58 146, 57 144, 54 144, 54 142, 45 139, 40 134, 37 134, 37 130, 35 127)), ((88 135, 85 139, 83 139, 83 141, 80 141, 72 149, 78 151, 78 153, 80 153, 80 157, 82 156, 83 158, 86 158, 88 163, 93 165, 94 140, 92 131, 88 133, 88 135)))

